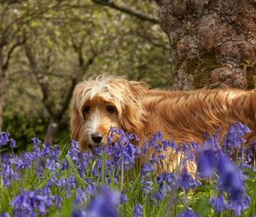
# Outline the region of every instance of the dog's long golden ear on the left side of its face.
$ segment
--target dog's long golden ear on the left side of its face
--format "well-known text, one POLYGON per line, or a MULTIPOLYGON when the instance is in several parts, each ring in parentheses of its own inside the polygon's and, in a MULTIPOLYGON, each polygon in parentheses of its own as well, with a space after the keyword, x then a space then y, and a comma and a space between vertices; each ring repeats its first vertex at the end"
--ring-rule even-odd
POLYGON ((77 85, 73 91, 73 99, 70 107, 70 128, 71 137, 73 140, 79 140, 79 132, 83 125, 83 117, 80 114, 80 99, 82 89, 80 85, 77 85))

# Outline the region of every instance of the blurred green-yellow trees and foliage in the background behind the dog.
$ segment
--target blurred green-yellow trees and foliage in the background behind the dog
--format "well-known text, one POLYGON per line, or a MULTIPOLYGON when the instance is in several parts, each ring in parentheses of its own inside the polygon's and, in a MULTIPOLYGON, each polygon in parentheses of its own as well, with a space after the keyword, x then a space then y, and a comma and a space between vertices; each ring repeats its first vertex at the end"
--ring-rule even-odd
MULTIPOLYGON (((169 43, 157 20, 104 2, 0 1, 2 130, 9 130, 21 148, 34 136, 54 144, 70 140, 73 87, 92 75, 125 75, 152 88, 168 88, 169 43)), ((154 1, 114 3, 157 19, 154 1)))

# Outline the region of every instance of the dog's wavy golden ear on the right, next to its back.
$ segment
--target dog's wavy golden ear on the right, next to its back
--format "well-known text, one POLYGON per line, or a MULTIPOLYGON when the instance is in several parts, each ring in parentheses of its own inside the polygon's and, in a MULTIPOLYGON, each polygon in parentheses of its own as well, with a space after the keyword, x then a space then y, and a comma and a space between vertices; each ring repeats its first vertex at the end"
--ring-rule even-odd
POLYGON ((127 132, 140 134, 144 127, 146 111, 143 110, 143 95, 145 94, 145 83, 128 82, 129 92, 126 94, 127 102, 123 105, 121 126, 127 132))

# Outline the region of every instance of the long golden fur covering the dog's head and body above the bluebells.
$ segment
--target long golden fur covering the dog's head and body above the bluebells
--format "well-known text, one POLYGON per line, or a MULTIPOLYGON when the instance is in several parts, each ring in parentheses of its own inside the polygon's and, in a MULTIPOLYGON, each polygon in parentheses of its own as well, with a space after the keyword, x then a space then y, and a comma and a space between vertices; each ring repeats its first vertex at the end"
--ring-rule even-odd
POLYGON ((142 146, 157 131, 177 144, 201 144, 206 132, 220 128, 221 138, 236 122, 253 130, 245 138, 251 146, 256 140, 255 89, 167 91, 123 77, 99 76, 76 86, 71 106, 72 139, 82 150, 96 145, 91 134, 101 134, 100 142, 106 143, 111 126, 137 134, 142 146))

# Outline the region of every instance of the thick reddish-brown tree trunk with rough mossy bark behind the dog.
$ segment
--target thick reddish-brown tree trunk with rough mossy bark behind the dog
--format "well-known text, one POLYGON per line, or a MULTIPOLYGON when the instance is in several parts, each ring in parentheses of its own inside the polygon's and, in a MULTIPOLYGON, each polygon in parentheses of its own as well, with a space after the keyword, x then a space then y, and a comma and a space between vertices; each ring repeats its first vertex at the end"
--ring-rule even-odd
POLYGON ((171 43, 172 89, 224 84, 253 89, 256 75, 254 0, 157 0, 171 43))

